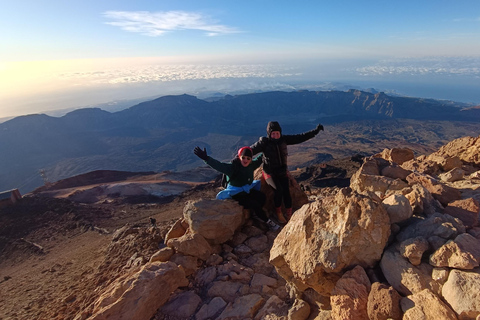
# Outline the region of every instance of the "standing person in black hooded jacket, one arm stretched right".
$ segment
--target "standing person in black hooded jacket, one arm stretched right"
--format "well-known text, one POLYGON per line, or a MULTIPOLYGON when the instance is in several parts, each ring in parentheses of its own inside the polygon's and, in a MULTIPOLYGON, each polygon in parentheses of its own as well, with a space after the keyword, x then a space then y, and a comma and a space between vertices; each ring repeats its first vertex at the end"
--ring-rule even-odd
POLYGON ((282 200, 285 205, 285 215, 289 220, 292 216, 292 197, 288 179, 287 145, 305 142, 315 137, 321 124, 311 131, 295 135, 282 134, 282 128, 277 121, 270 121, 267 125, 267 136, 260 137, 250 148, 253 154, 263 152, 263 177, 274 189, 274 204, 278 221, 286 223, 282 213, 282 200))

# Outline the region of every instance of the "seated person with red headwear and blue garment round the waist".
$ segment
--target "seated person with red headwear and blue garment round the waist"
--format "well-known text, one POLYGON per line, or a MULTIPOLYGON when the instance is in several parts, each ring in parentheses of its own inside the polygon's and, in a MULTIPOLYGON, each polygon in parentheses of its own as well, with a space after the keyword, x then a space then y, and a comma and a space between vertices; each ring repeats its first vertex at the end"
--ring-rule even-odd
POLYGON ((260 191, 260 180, 253 179, 253 173, 262 165, 262 155, 252 160, 252 149, 243 147, 238 150, 235 159, 227 163, 208 156, 205 148, 202 150, 195 147, 193 153, 211 168, 227 176, 228 185, 225 190, 217 194, 217 199, 236 200, 245 209, 253 210, 254 215, 266 223, 270 229, 278 230, 279 226, 268 219, 263 210, 266 197, 260 191))

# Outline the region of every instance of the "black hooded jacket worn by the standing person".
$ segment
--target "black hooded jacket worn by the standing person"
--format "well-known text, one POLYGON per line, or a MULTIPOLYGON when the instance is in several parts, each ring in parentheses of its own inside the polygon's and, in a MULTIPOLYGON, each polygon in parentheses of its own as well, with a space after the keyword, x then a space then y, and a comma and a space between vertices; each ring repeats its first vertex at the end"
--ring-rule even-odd
POLYGON ((287 145, 298 144, 312 139, 318 134, 318 130, 310 130, 295 135, 281 135, 280 139, 270 138, 273 131, 280 131, 282 128, 276 121, 271 121, 267 125, 267 136, 260 139, 250 146, 253 154, 263 152, 263 171, 273 176, 284 176, 287 174, 287 145))

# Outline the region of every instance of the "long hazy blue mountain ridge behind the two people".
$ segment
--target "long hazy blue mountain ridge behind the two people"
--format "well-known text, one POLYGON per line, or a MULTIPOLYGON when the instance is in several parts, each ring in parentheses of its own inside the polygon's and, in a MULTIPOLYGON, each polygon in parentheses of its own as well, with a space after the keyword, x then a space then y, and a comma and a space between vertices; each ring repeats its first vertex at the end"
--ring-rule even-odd
POLYGON ((194 145, 226 159, 235 146, 264 135, 270 120, 298 133, 317 123, 387 119, 478 122, 480 109, 352 89, 275 91, 210 102, 184 94, 113 113, 87 108, 58 118, 21 116, 0 123, 0 190, 38 187, 40 169, 52 181, 98 169, 188 169, 201 164, 191 153, 194 145))

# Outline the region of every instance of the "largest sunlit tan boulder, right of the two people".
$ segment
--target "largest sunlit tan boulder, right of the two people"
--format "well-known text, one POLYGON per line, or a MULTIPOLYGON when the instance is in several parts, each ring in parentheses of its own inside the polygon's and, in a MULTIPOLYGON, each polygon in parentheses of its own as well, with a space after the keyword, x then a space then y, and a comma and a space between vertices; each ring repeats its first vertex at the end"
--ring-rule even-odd
POLYGON ((390 219, 381 203, 341 189, 293 215, 274 241, 270 262, 300 291, 329 295, 348 267, 374 266, 389 235, 390 219))

